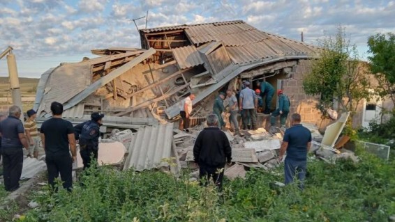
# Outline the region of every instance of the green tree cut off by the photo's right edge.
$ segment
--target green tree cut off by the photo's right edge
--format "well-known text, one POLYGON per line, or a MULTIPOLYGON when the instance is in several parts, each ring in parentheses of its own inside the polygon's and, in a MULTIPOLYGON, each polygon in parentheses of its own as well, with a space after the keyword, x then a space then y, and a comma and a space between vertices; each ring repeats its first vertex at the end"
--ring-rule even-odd
POLYGON ((378 80, 380 96, 389 95, 395 104, 395 34, 378 33, 368 38, 370 69, 378 80))

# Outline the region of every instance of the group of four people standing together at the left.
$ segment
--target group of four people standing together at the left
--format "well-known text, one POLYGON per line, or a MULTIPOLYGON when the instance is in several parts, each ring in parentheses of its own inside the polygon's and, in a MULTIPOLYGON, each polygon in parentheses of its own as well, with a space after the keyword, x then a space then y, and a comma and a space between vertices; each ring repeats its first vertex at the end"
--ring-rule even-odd
POLYGON ((45 151, 48 184, 54 189, 55 179, 61 177, 63 187, 68 191, 73 188, 73 162, 77 159, 76 141, 80 145, 80 154, 84 169, 94 159, 98 159, 99 127, 104 115, 92 113, 91 120, 73 127, 73 124, 62 118, 63 105, 59 102, 51 104, 52 118, 43 122, 38 132, 36 111, 27 111, 27 120, 20 120, 22 110, 19 106, 11 106, 9 116, 0 116, 0 150, 3 159, 4 186, 7 191, 15 191, 20 187, 19 180, 23 166, 23 148, 27 157, 38 157, 40 142, 45 151))

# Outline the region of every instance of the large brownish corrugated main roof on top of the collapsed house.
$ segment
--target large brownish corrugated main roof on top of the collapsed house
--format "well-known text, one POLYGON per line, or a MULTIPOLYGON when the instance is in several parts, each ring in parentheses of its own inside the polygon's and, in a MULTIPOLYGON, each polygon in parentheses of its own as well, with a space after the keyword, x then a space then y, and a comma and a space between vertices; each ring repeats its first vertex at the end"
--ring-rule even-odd
POLYGON ((318 48, 306 45, 304 42, 260 31, 243 21, 177 27, 184 29, 194 45, 214 41, 223 42, 234 63, 251 63, 274 56, 314 54, 318 51, 318 48))

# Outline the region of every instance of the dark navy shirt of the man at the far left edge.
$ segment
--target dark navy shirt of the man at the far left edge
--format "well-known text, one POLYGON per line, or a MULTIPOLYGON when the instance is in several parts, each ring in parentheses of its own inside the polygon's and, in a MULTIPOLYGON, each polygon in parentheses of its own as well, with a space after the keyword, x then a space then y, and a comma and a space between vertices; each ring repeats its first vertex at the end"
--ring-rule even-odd
POLYGON ((24 128, 20 119, 9 116, 0 122, 1 147, 2 148, 22 148, 22 143, 18 134, 24 133, 24 128))

